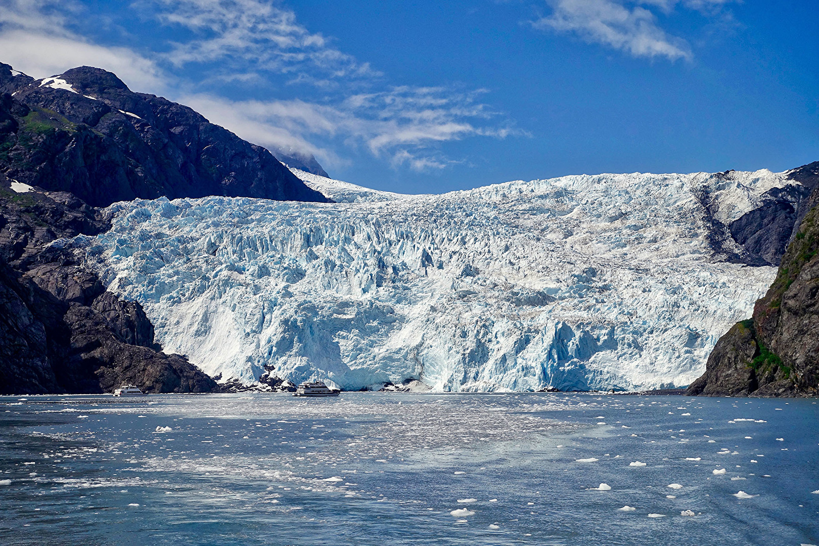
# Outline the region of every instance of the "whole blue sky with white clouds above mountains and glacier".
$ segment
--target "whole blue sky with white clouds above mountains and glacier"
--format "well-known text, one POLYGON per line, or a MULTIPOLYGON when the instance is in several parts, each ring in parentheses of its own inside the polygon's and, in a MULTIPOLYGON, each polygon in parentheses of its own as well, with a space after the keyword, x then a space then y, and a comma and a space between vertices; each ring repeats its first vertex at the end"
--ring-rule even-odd
POLYGON ((396 192, 819 160, 816 2, 0 0, 0 61, 97 65, 396 192))

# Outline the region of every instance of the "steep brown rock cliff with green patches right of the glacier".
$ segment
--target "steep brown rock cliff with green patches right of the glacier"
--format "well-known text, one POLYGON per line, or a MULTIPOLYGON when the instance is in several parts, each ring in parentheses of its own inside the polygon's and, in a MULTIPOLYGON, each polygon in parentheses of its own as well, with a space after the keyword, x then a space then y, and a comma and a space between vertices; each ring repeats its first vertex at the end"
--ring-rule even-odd
POLYGON ((791 177, 812 194, 797 210, 776 278, 753 316, 720 338, 688 395, 819 394, 819 162, 791 177))

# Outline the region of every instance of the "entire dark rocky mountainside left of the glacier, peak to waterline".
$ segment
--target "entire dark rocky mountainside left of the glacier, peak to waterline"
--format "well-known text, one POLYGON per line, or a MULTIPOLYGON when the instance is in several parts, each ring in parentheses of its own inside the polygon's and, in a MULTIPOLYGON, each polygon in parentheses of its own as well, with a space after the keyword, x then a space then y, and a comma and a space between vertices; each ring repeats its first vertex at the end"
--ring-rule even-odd
POLYGON ((114 74, 34 80, 0 64, 0 394, 218 389, 66 251, 111 228, 97 206, 209 195, 329 201, 264 148, 114 74))

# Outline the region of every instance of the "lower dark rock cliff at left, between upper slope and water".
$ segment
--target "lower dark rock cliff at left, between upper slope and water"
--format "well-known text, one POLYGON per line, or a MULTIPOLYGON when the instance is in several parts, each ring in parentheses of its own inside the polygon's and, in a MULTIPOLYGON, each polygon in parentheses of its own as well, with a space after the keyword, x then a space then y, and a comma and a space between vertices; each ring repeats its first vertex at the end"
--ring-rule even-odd
POLYGON ((215 381, 154 343, 137 302, 105 291, 52 245, 108 228, 65 192, 16 193, 0 175, 0 394, 210 392, 215 381))

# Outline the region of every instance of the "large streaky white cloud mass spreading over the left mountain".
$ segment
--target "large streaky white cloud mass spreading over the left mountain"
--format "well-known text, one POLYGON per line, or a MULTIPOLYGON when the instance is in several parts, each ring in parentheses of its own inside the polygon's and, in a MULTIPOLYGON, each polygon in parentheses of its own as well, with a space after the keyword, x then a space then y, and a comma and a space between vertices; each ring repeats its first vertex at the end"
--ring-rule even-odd
POLYGON ((192 106, 250 142, 312 153, 331 166, 363 150, 396 169, 442 169, 460 161, 446 156, 446 142, 523 134, 481 102, 482 89, 388 85, 276 0, 138 0, 136 13, 186 37, 142 44, 143 53, 93 43, 73 30, 88 9, 74 0, 0 0, 2 61, 38 77, 99 66, 140 91, 192 106), (214 79, 237 90, 290 83, 305 93, 238 100, 214 90, 224 86, 204 92, 214 79))

